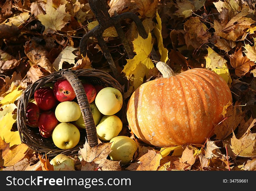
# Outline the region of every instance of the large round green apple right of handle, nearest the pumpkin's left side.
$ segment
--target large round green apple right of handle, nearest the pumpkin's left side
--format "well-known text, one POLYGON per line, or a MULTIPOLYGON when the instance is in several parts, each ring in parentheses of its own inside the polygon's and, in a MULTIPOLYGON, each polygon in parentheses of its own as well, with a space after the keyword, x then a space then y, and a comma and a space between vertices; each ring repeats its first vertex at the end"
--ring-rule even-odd
POLYGON ((122 93, 116 88, 103 88, 97 94, 95 104, 103 115, 114 115, 122 108, 122 93))

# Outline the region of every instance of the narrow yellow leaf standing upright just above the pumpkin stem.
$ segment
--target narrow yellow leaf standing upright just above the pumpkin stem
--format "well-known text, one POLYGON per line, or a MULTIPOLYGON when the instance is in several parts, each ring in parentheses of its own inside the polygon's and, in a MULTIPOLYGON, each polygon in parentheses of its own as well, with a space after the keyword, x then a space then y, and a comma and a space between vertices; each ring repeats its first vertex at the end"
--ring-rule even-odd
POLYGON ((154 28, 154 34, 157 37, 158 50, 161 55, 160 61, 166 62, 168 60, 168 50, 163 47, 163 37, 162 37, 162 21, 158 13, 156 13, 157 25, 154 28))

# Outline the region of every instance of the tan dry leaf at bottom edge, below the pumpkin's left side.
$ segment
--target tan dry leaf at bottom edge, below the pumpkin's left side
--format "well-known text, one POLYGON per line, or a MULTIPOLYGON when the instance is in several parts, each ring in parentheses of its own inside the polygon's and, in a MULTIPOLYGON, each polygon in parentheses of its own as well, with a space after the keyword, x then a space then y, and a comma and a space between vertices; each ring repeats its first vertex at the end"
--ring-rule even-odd
POLYGON ((155 171, 160 166, 160 160, 162 156, 154 150, 148 150, 143 156, 141 156, 137 163, 131 163, 127 170, 150 170, 155 171))

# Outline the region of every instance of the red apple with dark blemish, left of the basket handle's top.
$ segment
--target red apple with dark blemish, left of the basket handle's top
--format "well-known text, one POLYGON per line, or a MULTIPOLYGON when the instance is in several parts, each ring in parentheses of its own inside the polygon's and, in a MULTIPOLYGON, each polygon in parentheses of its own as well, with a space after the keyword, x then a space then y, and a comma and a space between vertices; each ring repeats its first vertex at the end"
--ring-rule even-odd
POLYGON ((60 102, 72 101, 76 97, 72 86, 66 79, 56 81, 54 83, 53 92, 56 99, 60 102))

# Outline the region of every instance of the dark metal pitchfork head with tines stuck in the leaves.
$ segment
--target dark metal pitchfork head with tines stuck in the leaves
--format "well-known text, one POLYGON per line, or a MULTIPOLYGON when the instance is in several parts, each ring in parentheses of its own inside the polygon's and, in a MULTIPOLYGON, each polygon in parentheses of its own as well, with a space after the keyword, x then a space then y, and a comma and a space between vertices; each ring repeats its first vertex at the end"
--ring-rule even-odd
MULTIPOLYGON (((125 33, 122 30, 120 21, 123 19, 132 19, 138 28, 139 35, 144 39, 147 38, 147 32, 145 31, 145 28, 144 28, 140 18, 137 15, 135 15, 134 13, 126 12, 126 13, 122 13, 122 14, 114 16, 114 17, 110 17, 110 15, 108 13, 108 8, 107 8, 104 0, 88 0, 88 3, 90 5, 91 10, 93 11, 93 13, 96 16, 96 19, 98 20, 99 25, 97 25, 92 30, 90 30, 88 33, 83 35, 83 37, 80 41, 80 44, 79 44, 79 51, 82 56, 86 56, 88 39, 92 36, 97 38, 99 46, 101 47, 102 52, 103 52, 106 60, 109 63, 109 66, 111 68, 111 71, 113 72, 113 75, 115 77, 117 77, 118 76, 117 68, 116 68, 114 60, 109 52, 107 44, 102 37, 104 30, 111 26, 115 27, 115 30, 117 31, 118 36, 122 41, 122 44, 125 48, 125 51, 126 51, 129 59, 132 59, 134 57, 134 53, 128 44, 128 41, 125 37, 125 33)), ((154 60, 159 61, 159 58, 158 58, 157 54, 155 53, 154 49, 152 50, 151 55, 154 60)))

